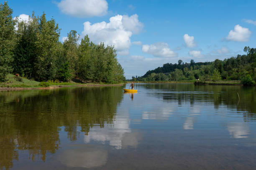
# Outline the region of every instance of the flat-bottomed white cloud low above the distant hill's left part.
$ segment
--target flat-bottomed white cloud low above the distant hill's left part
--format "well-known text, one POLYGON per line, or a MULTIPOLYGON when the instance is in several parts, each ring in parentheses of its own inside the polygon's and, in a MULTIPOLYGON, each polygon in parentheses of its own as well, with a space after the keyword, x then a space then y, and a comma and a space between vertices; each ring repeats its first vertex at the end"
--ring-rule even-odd
POLYGON ((176 57, 177 53, 173 52, 165 42, 157 42, 151 45, 142 45, 142 51, 152 54, 155 57, 176 57))

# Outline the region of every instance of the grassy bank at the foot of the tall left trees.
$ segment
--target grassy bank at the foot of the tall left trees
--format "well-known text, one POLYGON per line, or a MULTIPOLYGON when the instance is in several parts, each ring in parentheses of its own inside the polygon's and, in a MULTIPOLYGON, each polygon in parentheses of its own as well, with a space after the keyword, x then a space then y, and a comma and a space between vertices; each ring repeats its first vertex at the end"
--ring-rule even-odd
POLYGON ((106 83, 77 83, 77 82, 37 82, 28 80, 26 77, 16 77, 8 74, 5 82, 0 82, 0 90, 23 90, 23 89, 51 89, 58 87, 73 87, 73 86, 114 86, 123 84, 106 84, 106 83))

